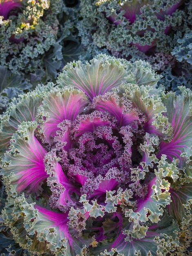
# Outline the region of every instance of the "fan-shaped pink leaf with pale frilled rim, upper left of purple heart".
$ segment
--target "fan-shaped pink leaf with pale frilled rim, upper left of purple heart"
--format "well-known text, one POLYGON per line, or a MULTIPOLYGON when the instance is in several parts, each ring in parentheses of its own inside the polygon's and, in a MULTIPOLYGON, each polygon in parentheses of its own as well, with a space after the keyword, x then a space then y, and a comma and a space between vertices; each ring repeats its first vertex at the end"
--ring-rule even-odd
POLYGON ((87 104, 85 94, 79 90, 54 88, 45 97, 40 108, 44 141, 51 143, 51 137, 59 130, 58 124, 65 119, 74 121, 77 115, 85 111, 87 104))

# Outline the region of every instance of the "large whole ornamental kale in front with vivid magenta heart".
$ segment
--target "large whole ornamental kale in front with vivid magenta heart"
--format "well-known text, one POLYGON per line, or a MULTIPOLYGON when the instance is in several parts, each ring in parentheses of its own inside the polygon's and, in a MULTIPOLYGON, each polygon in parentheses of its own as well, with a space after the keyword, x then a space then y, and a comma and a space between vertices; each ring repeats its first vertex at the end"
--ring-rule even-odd
POLYGON ((190 246, 192 92, 165 94, 159 79, 145 61, 100 54, 12 102, 1 118, 2 219, 23 249, 155 256, 190 246))

